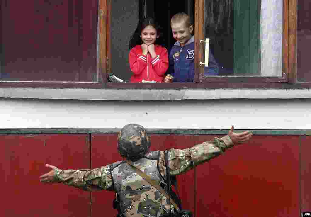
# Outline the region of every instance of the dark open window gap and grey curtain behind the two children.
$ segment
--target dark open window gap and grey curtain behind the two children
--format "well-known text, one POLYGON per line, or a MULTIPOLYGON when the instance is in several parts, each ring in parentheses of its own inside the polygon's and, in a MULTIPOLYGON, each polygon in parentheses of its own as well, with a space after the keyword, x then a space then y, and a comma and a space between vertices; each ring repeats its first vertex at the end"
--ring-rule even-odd
MULTIPOLYGON (((174 14, 186 12, 194 19, 193 0, 179 1, 178 3, 170 0, 161 3, 155 0, 135 0, 128 2, 115 0, 110 2, 110 8, 109 16, 111 16, 111 24, 109 34, 111 35, 111 50, 109 65, 111 73, 126 82, 130 80, 132 74, 128 61, 129 45, 136 42, 131 38, 133 35, 140 35, 137 29, 139 21, 144 20, 146 17, 155 18, 162 27, 162 36, 156 40, 156 43, 165 47, 169 52, 175 43, 170 26, 170 20, 174 14), (123 7, 120 7, 120 4, 123 7)), ((108 85, 110 86, 111 84, 108 85)), ((129 84, 123 83, 121 87, 122 85, 124 87, 129 84)), ((142 84, 135 83, 135 85, 142 84)))

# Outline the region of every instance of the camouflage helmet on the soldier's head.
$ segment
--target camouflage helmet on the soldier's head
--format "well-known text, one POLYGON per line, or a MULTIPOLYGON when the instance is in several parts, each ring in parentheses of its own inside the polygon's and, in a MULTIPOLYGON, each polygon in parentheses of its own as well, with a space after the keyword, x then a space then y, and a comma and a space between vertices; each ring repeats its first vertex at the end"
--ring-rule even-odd
POLYGON ((119 132, 117 148, 122 157, 137 161, 149 151, 150 137, 141 125, 128 124, 119 132))

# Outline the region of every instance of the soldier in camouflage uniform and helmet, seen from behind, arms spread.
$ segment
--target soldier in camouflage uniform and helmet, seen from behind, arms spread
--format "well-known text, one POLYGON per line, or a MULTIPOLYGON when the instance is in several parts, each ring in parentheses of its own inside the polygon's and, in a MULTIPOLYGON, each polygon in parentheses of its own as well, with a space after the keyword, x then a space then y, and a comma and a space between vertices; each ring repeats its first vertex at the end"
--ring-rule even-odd
MULTIPOLYGON (((252 136, 245 131, 229 134, 203 142, 189 149, 170 149, 168 166, 175 176, 214 158, 234 144, 248 141, 252 136)), ((159 184, 166 181, 165 154, 149 151, 150 137, 137 124, 125 125, 118 135, 117 148, 122 157, 130 160, 152 180, 159 184)), ((120 212, 124 217, 158 217, 174 210, 168 198, 140 177, 126 161, 119 161, 96 169, 61 170, 46 164, 52 170, 40 176, 43 183, 63 183, 86 191, 115 191, 120 201, 120 212)))

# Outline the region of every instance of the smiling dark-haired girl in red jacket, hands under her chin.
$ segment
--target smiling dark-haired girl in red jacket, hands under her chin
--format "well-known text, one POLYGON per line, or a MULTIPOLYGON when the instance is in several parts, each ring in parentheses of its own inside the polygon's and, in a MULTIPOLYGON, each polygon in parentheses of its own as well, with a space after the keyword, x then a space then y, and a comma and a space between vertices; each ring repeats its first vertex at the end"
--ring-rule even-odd
POLYGON ((154 44, 160 37, 160 26, 152 18, 146 18, 138 30, 141 41, 131 49, 128 58, 133 73, 131 82, 164 82, 169 66, 167 50, 154 44))

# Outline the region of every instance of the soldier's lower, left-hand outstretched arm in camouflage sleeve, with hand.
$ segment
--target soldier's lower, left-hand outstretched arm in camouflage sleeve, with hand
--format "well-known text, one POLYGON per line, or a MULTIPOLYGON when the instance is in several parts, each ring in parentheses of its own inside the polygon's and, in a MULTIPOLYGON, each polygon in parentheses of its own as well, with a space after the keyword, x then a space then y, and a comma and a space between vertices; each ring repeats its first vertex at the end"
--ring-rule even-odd
POLYGON ((49 164, 45 166, 52 170, 39 177, 44 184, 63 183, 85 191, 114 190, 109 165, 92 170, 61 170, 49 164))

